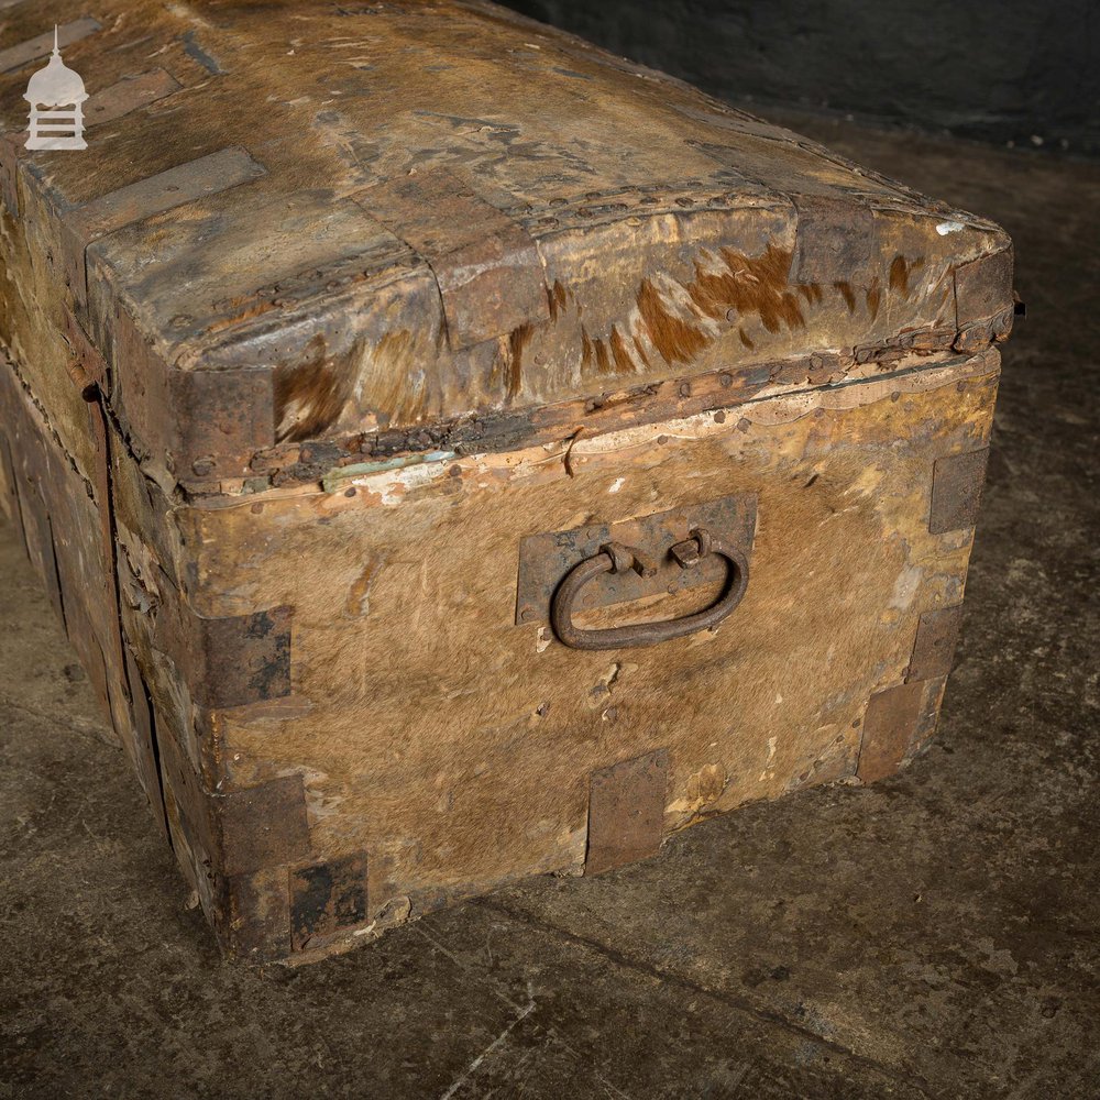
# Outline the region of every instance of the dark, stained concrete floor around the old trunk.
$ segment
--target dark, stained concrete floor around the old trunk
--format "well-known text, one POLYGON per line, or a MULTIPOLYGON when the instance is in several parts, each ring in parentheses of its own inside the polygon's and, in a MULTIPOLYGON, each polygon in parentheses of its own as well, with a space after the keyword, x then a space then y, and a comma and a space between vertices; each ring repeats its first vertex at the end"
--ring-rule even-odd
POLYGON ((1100 1097, 1100 166, 778 121, 1016 240, 1030 316, 932 750, 235 969, 0 527, 0 1100, 1100 1097))

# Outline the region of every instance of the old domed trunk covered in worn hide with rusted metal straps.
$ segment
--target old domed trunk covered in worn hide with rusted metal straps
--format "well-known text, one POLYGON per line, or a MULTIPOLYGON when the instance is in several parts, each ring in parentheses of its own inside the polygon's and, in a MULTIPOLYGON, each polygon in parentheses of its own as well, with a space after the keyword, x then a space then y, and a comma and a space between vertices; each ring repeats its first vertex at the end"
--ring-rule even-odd
POLYGON ((227 953, 921 750, 996 226, 490 4, 84 14, 3 29, 0 487, 227 953))

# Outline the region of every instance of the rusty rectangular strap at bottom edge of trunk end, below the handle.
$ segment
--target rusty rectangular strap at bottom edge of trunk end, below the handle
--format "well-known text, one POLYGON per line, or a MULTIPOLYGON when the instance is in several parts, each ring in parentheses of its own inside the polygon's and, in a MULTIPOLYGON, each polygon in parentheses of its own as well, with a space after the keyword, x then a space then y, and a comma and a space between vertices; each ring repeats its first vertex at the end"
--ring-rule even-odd
POLYGON ((668 781, 667 749, 592 773, 585 875, 598 875, 657 854, 664 829, 668 781))

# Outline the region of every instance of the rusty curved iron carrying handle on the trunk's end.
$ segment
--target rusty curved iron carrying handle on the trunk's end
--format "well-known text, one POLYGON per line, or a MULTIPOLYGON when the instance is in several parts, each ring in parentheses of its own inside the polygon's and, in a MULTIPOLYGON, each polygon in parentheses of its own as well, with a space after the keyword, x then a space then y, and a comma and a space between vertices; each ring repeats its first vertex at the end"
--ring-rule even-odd
POLYGON ((682 569, 692 569, 708 554, 726 560, 726 583, 722 595, 710 607, 682 618, 659 623, 636 623, 603 630, 582 630, 573 625, 573 604, 581 590, 601 573, 619 573, 634 569, 651 576, 654 569, 637 550, 610 542, 597 554, 586 558, 565 574, 550 604, 550 623, 558 639, 571 649, 627 649, 631 646, 656 646, 670 638, 682 638, 696 630, 717 626, 740 602, 749 583, 749 565, 740 550, 724 546, 708 530, 698 527, 669 553, 682 569))

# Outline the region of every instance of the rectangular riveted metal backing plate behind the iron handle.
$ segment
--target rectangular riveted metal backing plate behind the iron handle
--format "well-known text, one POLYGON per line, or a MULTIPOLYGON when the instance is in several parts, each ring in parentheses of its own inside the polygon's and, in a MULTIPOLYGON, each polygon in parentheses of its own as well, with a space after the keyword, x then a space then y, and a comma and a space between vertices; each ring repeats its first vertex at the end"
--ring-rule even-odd
POLYGON ((669 549, 686 539, 693 528, 705 527, 716 538, 740 550, 751 564, 756 501, 755 493, 724 496, 706 504, 672 508, 617 524, 592 524, 524 539, 519 543, 516 624, 548 623, 550 601, 562 579, 574 565, 597 554, 607 542, 637 548, 657 565, 657 573, 648 579, 632 570, 607 573, 585 586, 578 597, 578 610, 719 583, 726 566, 717 556, 693 569, 682 569, 670 557, 669 549))

